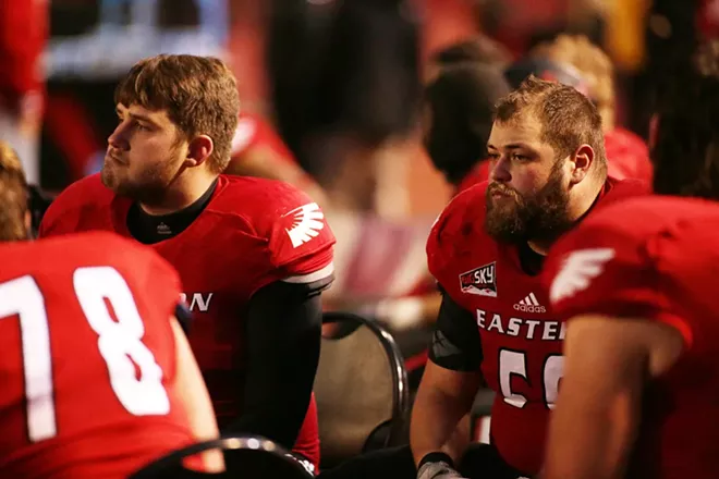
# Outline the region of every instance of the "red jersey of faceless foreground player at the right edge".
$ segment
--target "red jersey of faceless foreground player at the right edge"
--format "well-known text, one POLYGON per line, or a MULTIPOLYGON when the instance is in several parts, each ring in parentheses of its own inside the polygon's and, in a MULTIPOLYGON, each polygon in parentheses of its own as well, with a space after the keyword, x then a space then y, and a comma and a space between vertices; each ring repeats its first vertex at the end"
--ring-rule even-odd
POLYGON ((719 470, 718 224, 716 202, 632 198, 590 216, 550 251, 545 280, 558 318, 645 318, 684 336, 679 361, 647 388, 626 477, 719 470))

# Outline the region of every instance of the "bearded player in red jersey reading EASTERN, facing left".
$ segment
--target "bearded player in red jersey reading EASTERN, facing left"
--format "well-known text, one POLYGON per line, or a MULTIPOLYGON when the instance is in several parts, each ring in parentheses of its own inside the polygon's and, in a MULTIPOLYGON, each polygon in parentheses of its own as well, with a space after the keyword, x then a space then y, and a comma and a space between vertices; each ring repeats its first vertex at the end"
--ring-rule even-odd
POLYGON ((427 242, 443 300, 412 416, 422 479, 459 477, 455 462, 468 477, 539 472, 564 339, 540 283, 544 258, 592 210, 644 191, 607 177, 597 109, 558 83, 531 76, 502 98, 487 149, 489 182, 458 195, 427 242), (483 384, 496 396, 491 445, 477 460, 476 449, 462 457, 448 441, 483 384))

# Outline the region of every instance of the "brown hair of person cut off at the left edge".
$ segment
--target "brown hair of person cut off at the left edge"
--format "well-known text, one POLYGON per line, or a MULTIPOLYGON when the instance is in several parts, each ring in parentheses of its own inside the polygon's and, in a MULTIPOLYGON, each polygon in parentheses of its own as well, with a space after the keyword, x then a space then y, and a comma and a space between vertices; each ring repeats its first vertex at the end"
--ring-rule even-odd
POLYGON ((27 182, 15 151, 0 142, 0 241, 27 238, 27 182))

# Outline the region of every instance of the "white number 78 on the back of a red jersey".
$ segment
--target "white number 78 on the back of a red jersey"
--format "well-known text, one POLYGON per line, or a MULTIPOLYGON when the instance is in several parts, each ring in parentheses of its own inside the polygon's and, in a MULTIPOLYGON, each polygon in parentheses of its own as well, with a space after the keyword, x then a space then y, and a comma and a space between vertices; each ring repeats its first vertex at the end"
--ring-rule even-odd
MULTIPOLYGON (((168 414, 170 401, 162 385, 162 370, 141 341, 145 326, 124 278, 111 267, 87 267, 75 270, 73 283, 85 319, 98 335, 97 347, 118 401, 134 416, 168 414), (117 321, 105 299, 112 305, 117 321), (139 367, 139 379, 133 363, 139 367)), ((27 432, 31 441, 37 442, 54 437, 58 427, 45 297, 31 275, 0 284, 0 318, 14 315, 20 317, 27 432)))

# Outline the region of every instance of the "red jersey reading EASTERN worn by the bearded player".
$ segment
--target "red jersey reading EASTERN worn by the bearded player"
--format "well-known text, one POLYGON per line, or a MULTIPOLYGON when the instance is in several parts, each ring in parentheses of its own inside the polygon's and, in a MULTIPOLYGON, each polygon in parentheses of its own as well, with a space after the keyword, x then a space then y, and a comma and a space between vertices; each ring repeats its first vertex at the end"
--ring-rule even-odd
MULTIPOLYGON (((427 260, 451 298, 476 315, 482 373, 496 392, 492 443, 509 465, 535 475, 562 376, 564 329, 549 308, 540 275, 522 269, 515 246, 486 234, 486 188, 487 183, 471 187, 447 206, 429 235, 427 260)), ((599 202, 639 188, 610 180, 599 202)))

